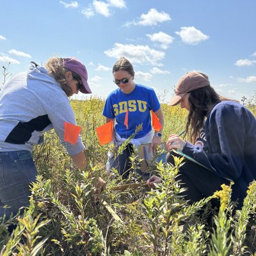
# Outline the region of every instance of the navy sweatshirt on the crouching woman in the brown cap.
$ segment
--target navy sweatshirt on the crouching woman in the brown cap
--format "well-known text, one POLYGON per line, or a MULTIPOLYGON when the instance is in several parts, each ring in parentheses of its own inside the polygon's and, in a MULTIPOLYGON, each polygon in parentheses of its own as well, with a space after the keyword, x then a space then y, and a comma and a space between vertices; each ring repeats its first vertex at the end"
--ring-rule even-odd
POLYGON ((232 200, 241 208, 247 188, 256 180, 256 120, 241 104, 223 101, 205 120, 204 147, 186 141, 183 152, 219 177, 234 181, 232 200))

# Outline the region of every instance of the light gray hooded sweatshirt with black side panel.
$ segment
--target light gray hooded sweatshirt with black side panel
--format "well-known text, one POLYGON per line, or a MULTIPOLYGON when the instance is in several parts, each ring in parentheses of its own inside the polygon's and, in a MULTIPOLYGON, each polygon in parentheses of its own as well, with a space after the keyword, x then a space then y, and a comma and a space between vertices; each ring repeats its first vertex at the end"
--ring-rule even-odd
POLYGON ((44 67, 31 64, 28 73, 12 77, 0 91, 0 151, 33 150, 44 142, 44 132, 54 129, 70 156, 84 150, 64 142, 64 123, 76 125, 66 93, 44 67))

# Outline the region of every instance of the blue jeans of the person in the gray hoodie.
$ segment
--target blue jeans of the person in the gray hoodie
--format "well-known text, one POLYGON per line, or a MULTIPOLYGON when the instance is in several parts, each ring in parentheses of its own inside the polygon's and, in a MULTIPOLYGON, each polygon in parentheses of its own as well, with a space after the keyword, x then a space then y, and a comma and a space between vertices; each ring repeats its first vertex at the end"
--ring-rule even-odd
POLYGON ((0 152, 0 218, 17 214, 29 205, 29 184, 36 180, 36 166, 29 151, 0 152), (8 205, 10 208, 4 209, 8 205))

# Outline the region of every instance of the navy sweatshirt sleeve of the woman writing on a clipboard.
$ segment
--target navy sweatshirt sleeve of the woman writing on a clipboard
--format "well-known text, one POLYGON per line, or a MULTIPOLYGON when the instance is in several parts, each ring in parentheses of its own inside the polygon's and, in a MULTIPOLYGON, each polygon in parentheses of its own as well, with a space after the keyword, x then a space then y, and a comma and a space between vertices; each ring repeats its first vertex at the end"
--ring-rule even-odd
POLYGON ((243 116, 232 106, 221 103, 205 122, 209 150, 186 142, 183 152, 223 178, 236 180, 244 164, 245 131, 243 116))

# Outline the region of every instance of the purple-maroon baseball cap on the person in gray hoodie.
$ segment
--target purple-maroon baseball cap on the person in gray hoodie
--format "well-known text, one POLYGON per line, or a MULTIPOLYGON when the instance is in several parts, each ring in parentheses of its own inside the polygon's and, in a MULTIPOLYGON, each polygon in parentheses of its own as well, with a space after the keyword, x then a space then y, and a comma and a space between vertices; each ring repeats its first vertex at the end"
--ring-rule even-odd
POLYGON ((77 60, 75 57, 64 58, 64 67, 69 70, 75 72, 82 79, 83 88, 80 90, 82 93, 92 93, 88 83, 88 74, 86 67, 81 63, 81 61, 77 60))

